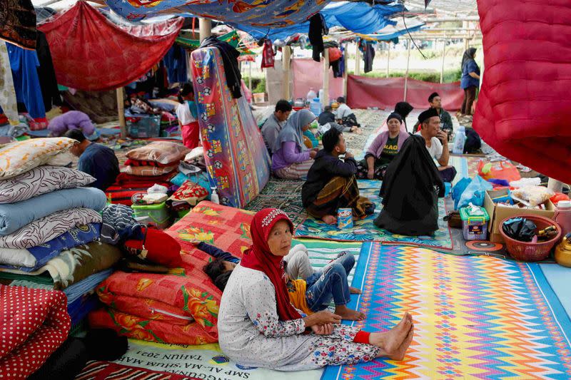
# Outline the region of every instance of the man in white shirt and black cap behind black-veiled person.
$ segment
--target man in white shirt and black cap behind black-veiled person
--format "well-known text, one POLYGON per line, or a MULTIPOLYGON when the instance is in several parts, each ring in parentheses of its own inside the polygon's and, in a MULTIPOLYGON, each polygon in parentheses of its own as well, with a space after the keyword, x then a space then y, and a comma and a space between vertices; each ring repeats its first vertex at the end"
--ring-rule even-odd
POLYGON ((426 149, 430 157, 438 161, 440 165, 440 177, 444 182, 452 182, 456 176, 456 169, 448 165, 450 160, 450 148, 448 148, 448 135, 440 130, 440 116, 435 108, 429 108, 418 115, 420 130, 417 135, 423 136, 426 149))

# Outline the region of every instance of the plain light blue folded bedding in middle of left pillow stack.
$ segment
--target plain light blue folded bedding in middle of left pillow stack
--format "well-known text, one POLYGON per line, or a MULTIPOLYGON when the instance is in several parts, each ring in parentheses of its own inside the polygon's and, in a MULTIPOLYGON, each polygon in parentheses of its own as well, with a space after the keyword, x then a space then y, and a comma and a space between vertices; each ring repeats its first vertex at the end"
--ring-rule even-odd
POLYGON ((64 189, 33 197, 29 200, 0 205, 0 236, 9 235, 54 212, 74 207, 103 210, 105 193, 96 188, 64 189))

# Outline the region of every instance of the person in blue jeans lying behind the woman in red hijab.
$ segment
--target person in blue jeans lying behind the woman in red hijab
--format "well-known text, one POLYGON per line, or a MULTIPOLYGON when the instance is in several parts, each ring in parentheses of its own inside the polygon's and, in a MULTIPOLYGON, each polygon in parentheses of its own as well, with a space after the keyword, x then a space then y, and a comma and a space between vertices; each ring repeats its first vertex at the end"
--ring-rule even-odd
MULTIPOLYGON (((198 242, 199 250, 208 253, 216 260, 209 262, 203 270, 212 282, 223 292, 233 269, 240 262, 230 252, 198 242)), ((348 252, 341 252, 335 260, 323 270, 315 271, 309 262, 308 250, 304 245, 293 247, 283 257, 283 269, 287 279, 290 302, 305 314, 313 314, 328 307, 331 300, 335 302, 335 314, 343 319, 358 321, 365 319, 365 314, 348 309, 349 294, 360 294, 360 290, 350 287, 347 276, 355 265, 355 257, 348 252), (301 279, 298 279, 301 277, 301 279)))

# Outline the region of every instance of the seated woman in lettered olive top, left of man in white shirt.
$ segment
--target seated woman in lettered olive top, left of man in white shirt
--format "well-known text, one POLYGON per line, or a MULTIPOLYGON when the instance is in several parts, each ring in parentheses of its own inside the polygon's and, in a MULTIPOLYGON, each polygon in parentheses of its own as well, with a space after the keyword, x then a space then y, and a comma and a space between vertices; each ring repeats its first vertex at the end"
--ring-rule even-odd
POLYGON ((383 180, 383 173, 388 164, 395 158, 400 147, 408 138, 408 133, 401 130, 403 118, 398 113, 391 113, 387 118, 388 130, 380 133, 358 163, 358 178, 383 180))

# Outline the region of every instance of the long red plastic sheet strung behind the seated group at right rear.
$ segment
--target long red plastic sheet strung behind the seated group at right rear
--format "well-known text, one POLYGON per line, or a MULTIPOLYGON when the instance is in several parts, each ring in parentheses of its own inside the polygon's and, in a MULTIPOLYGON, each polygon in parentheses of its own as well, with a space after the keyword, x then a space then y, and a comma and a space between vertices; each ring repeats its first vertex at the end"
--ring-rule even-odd
MULTIPOLYGON (((446 111, 457 111, 462 106, 464 91, 460 82, 430 83, 408 78, 406 101, 414 108, 428 108, 428 96, 437 92, 446 111)), ((403 101, 405 78, 365 78, 350 75, 347 82, 347 104, 351 108, 378 107, 393 109, 403 101)))

